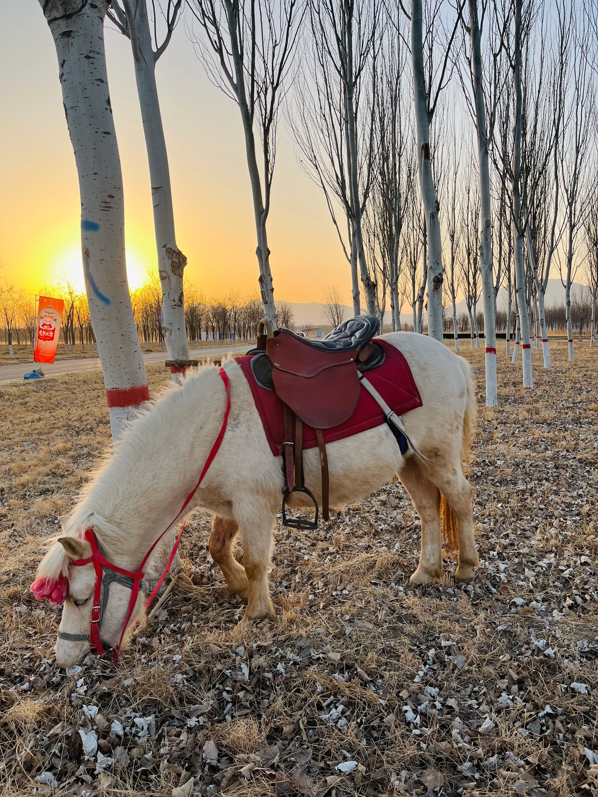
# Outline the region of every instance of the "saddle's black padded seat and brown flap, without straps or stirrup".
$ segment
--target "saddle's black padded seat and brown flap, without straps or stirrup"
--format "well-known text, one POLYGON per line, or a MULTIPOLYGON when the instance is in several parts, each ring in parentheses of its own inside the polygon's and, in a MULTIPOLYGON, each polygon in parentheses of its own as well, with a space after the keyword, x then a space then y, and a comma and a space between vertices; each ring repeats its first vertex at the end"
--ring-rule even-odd
POLYGON ((357 364, 372 354, 370 341, 379 326, 375 316, 357 316, 324 340, 309 340, 289 329, 258 339, 258 347, 266 344, 278 397, 313 429, 340 426, 359 401, 357 364))

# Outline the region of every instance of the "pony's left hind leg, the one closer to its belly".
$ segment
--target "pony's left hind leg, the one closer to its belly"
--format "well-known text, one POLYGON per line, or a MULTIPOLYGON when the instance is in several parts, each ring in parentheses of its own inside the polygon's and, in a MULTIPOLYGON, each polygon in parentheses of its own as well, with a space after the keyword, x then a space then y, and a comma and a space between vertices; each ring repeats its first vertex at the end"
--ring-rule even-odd
POLYGON ((422 548, 419 566, 409 579, 411 584, 430 584, 443 577, 443 554, 440 531, 440 493, 428 479, 426 468, 415 457, 407 457, 399 470, 399 479, 411 496, 422 523, 422 548))

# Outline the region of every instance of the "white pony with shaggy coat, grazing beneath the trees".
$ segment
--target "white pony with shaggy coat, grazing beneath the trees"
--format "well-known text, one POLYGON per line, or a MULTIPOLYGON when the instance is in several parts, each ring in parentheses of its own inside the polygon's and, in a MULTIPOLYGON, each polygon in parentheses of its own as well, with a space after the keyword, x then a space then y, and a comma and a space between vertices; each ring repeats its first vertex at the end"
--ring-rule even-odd
MULTIPOLYGON (((386 424, 329 443, 330 505, 359 501, 398 474, 421 519, 419 567, 411 583, 425 584, 443 575, 440 505, 441 498, 446 499, 450 509, 445 506, 443 519, 456 525, 458 536, 454 578, 468 581, 478 565, 472 489, 462 473, 462 456, 475 417, 469 364, 427 336, 395 332, 384 340, 402 351, 411 367, 423 406, 404 414, 403 422, 409 438, 430 463, 423 465, 411 448, 401 455, 386 424)), ((246 601, 245 619, 255 620, 274 614, 268 570, 283 472, 281 457, 274 457, 269 449, 241 368, 234 359, 223 368, 230 379, 226 434, 186 511, 203 507, 214 514, 211 556, 230 592, 246 601), (237 533, 243 566, 233 556, 237 533)), ((59 665, 73 665, 89 650, 87 642, 73 641, 73 637, 89 634, 96 573, 92 564, 70 567, 73 560, 90 556, 89 543, 81 539, 85 531, 95 532, 111 563, 135 571, 193 490, 218 437, 225 408, 226 391, 218 368, 191 371, 182 387, 167 389, 132 422, 63 523, 64 536, 41 560, 37 573, 46 584, 37 597, 65 603, 56 646, 59 665)), ((317 448, 305 450, 304 457, 305 484, 321 501, 317 448)), ((293 495, 289 504, 301 506, 301 495, 293 495)), ((119 641, 130 596, 130 587, 112 583, 101 618, 101 637, 108 646, 119 641)), ((143 615, 144 594, 140 592, 128 637, 132 622, 143 615)))

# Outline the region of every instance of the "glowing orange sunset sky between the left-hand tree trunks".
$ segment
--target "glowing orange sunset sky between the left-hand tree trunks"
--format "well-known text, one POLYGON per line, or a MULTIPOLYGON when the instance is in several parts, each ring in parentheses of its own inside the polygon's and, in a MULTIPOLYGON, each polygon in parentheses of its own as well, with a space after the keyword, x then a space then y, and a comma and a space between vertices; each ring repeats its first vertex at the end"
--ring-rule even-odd
MULTIPOLYGON (((37 0, 0 0, 0 278, 39 292, 67 277, 84 289, 77 172, 62 109, 56 50, 37 0)), ((124 174, 128 276, 155 267, 148 162, 131 48, 108 22, 108 79, 124 174)), ((257 292, 255 228, 237 106, 214 88, 184 24, 156 70, 171 167, 177 242, 207 296, 257 292)), ((275 298, 321 300, 350 275, 321 192, 280 124, 269 216, 275 298)))

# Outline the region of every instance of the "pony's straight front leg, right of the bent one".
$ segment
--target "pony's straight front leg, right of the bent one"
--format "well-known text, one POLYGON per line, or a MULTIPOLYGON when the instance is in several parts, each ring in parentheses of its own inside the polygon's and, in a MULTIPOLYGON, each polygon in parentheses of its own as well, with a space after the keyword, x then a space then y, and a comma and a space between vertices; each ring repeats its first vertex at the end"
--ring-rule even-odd
POLYGON ((276 508, 248 497, 242 506, 235 503, 233 511, 241 532, 243 567, 249 582, 245 620, 273 617, 276 612, 270 600, 268 568, 276 508))

